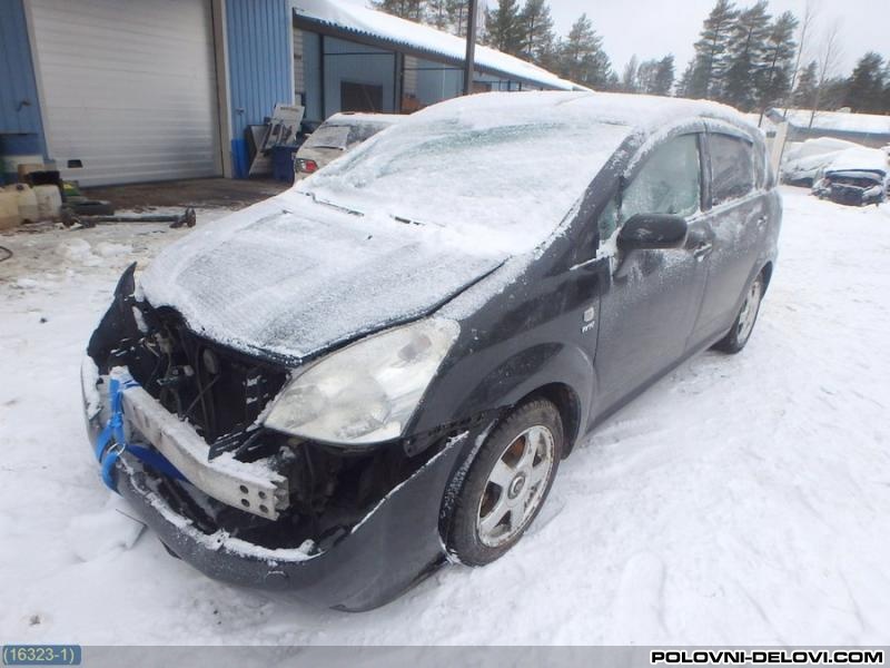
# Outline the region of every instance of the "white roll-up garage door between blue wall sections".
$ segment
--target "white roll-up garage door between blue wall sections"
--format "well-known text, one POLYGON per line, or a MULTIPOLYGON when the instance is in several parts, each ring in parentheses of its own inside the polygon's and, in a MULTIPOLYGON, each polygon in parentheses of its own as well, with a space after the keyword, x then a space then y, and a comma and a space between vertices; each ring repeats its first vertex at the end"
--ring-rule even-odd
POLYGON ((81 185, 221 174, 209 0, 30 0, 49 153, 81 185))

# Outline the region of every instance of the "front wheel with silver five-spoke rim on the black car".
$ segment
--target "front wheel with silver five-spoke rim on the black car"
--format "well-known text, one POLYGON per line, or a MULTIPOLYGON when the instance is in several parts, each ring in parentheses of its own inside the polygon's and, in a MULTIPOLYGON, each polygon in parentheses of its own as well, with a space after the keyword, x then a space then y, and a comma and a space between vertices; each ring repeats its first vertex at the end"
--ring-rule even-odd
POLYGON ((543 399, 512 411, 476 453, 454 502, 448 552, 485 566, 515 546, 550 493, 564 450, 560 411, 543 399))

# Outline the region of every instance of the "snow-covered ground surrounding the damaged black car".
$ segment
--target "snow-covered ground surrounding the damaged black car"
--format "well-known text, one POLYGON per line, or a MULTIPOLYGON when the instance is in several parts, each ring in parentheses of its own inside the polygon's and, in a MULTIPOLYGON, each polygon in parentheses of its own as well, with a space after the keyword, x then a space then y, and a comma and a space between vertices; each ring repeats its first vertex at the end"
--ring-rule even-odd
POLYGON ((783 191, 746 351, 684 364, 609 421, 507 557, 363 615, 204 578, 99 482, 85 343, 120 271, 187 232, 0 235, 0 641, 887 644, 890 206, 783 191))

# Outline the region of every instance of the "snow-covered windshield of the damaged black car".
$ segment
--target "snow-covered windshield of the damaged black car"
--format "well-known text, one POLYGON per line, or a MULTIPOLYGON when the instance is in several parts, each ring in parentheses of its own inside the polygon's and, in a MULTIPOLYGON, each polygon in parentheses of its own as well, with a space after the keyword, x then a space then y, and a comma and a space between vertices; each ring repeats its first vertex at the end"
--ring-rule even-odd
POLYGON ((553 233, 630 131, 571 114, 534 116, 409 117, 297 188, 364 215, 527 250, 553 233))

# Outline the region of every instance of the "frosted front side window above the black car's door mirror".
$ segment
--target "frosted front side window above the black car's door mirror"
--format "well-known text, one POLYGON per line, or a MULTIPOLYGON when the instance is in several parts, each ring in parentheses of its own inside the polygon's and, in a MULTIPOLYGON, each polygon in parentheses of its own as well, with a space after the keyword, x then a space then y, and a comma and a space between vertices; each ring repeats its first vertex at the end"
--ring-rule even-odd
POLYGON ((635 214, 691 216, 701 205, 701 165, 696 135, 683 135, 656 148, 633 180, 600 215, 605 240, 635 214))

